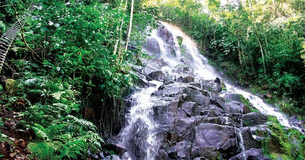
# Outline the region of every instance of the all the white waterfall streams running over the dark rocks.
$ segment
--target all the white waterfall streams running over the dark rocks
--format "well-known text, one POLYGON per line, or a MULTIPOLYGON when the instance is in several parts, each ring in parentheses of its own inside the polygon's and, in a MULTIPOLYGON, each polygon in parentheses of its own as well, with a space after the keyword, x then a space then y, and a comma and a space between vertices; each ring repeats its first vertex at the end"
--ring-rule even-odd
MULTIPOLYGON (((199 53, 196 43, 191 38, 173 25, 165 22, 162 22, 162 25, 172 34, 171 42, 168 42, 168 40, 165 42, 164 38, 158 36, 158 31, 156 29, 151 33, 150 38, 154 38, 158 41, 161 52, 161 54, 158 55, 158 58, 162 59, 168 65, 161 69, 164 73, 167 72, 171 77, 176 77, 176 73, 172 73, 170 69, 177 65, 186 65, 183 59, 187 59, 189 61, 187 66, 193 72, 195 78, 201 80, 212 80, 216 77, 222 78, 222 76, 208 64, 207 59, 199 53), (183 38, 182 45, 178 45, 177 36, 183 38), (173 55, 172 50, 169 51, 168 48, 174 49, 175 55, 173 55)), ((132 95, 135 104, 132 105, 129 113, 126 115, 126 126, 119 134, 121 145, 128 150, 128 155, 123 157, 123 159, 156 159, 159 147, 158 140, 156 139, 156 128, 158 127, 158 124, 153 121, 154 112, 152 109, 154 101, 156 100, 154 100, 155 97, 151 97, 150 94, 157 90, 161 84, 162 82, 158 82, 156 87, 141 88, 132 95)), ((249 99, 250 103, 261 113, 276 116, 282 125, 291 126, 288 123, 285 114, 276 110, 273 106, 265 104, 263 100, 256 95, 239 89, 229 82, 226 82, 226 86, 228 91, 220 94, 221 97, 227 92, 242 94, 243 97, 249 99)), ((298 129, 298 127, 296 128, 298 129)), ((240 128, 235 127, 235 133, 236 140, 238 140, 237 144, 242 153, 242 157, 240 158, 247 159, 240 128)))

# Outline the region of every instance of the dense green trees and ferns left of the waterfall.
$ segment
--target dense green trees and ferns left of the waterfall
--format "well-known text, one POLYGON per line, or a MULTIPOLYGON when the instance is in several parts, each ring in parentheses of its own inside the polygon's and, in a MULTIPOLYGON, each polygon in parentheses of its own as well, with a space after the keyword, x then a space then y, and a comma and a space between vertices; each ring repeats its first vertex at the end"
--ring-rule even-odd
MULTIPOLYGON (((27 1, 1 2, 1 33, 16 21, 10 3, 18 15, 29 6, 27 1)), ((33 51, 17 36, 2 72, 4 79, 15 79, 14 87, 7 94, 1 90, 1 104, 20 110, 20 124, 36 133, 27 146, 31 158, 85 158, 88 149, 101 149, 101 134, 117 132, 121 125, 120 99, 133 86, 130 66, 144 56, 143 30, 156 25, 156 9, 141 0, 134 6, 97 0, 34 3, 38 7, 23 28, 33 51)))

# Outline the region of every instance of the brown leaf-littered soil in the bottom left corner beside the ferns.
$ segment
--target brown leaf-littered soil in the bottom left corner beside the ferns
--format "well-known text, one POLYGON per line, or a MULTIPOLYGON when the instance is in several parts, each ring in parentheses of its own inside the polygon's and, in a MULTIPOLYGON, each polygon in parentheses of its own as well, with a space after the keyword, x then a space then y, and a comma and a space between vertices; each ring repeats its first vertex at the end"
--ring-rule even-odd
POLYGON ((26 159, 29 154, 26 145, 35 134, 33 130, 18 125, 18 122, 22 120, 22 117, 18 116, 19 114, 19 112, 0 105, 1 159, 26 159))

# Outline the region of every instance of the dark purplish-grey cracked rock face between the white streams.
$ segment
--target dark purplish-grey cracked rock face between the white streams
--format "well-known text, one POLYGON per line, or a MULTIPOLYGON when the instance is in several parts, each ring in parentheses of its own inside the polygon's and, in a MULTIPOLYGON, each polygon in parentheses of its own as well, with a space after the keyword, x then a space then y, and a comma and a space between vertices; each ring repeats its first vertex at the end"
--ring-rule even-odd
MULTIPOLYGON (((167 28, 159 28, 157 34, 175 50, 175 38, 167 28)), ((146 46, 149 52, 156 55, 161 52, 156 39, 148 39, 147 43, 151 45, 146 46)), ((176 46, 184 47, 178 43, 176 46)), ((181 58, 179 62, 179 65, 170 68, 159 57, 146 61, 139 69, 150 77, 142 81, 153 79, 163 82, 150 94, 155 100, 152 116, 158 124, 156 159, 269 159, 261 149, 261 140, 271 134, 264 124, 267 116, 251 112, 251 106, 242 103, 245 98, 240 94, 223 91, 219 78, 198 79, 192 73, 194 68, 189 65, 188 59, 181 58), (163 67, 170 69, 164 70, 163 67), (257 133, 267 134, 264 137, 257 133)), ((133 101, 127 98, 126 106, 133 101)), ((137 135, 135 137, 138 138, 137 135)), ((133 147, 136 154, 133 158, 145 159, 142 155, 146 153, 139 152, 137 155, 137 150, 145 147, 141 145, 143 139, 133 140, 137 141, 133 143, 135 146, 126 148, 133 147)))

